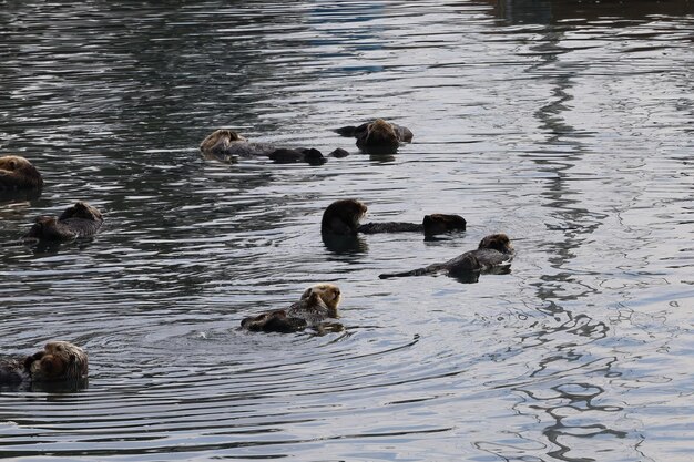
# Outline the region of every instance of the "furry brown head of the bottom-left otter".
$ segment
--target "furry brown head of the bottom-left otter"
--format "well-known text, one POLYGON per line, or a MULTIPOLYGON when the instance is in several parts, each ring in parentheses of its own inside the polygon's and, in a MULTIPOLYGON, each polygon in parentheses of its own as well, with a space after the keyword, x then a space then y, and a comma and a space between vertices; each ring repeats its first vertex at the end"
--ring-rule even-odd
POLYGON ((69 341, 51 341, 24 360, 34 381, 85 379, 89 372, 86 353, 69 341))

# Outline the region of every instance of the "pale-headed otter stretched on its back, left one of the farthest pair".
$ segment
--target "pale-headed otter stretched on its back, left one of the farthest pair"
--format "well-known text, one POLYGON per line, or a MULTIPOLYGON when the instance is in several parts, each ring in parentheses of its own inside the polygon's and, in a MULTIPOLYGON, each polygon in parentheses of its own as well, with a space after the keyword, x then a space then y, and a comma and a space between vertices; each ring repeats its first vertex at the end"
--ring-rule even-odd
POLYGON ((265 156, 279 164, 307 162, 320 165, 326 162, 320 151, 315 148, 287 148, 269 143, 248 142, 233 130, 215 130, 200 144, 200 151, 224 162, 236 162, 238 157, 265 156))

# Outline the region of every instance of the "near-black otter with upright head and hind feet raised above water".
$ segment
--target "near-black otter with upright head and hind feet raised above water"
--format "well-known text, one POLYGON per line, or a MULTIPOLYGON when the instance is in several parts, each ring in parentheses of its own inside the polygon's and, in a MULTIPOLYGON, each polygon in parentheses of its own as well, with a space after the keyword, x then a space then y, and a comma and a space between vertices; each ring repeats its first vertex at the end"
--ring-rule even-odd
POLYGON ((422 223, 366 223, 359 220, 366 215, 367 206, 357 199, 335 201, 323 213, 320 220, 320 232, 334 235, 356 235, 357 233, 423 233, 427 236, 449 233, 452 230, 465 230, 466 220, 460 215, 431 214, 426 215, 422 223))

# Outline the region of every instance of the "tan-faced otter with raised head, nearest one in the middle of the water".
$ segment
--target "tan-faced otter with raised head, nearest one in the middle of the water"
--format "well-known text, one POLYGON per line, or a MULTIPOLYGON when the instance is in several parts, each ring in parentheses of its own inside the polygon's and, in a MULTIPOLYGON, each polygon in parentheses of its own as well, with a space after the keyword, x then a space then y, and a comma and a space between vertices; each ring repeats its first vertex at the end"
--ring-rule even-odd
POLYGON ((329 283, 307 288, 299 301, 289 308, 249 316, 241 327, 254 332, 289 333, 307 327, 317 327, 328 318, 337 318, 337 306, 341 300, 339 287, 329 283))

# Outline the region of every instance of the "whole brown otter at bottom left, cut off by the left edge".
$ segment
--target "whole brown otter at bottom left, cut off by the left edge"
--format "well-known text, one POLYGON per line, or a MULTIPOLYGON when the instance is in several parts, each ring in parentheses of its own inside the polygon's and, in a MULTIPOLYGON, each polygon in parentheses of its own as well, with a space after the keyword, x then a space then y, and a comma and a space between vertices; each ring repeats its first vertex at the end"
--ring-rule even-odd
POLYGON ((0 360, 0 384, 82 380, 88 369, 84 350, 69 341, 51 341, 25 358, 0 360))

